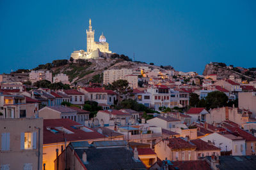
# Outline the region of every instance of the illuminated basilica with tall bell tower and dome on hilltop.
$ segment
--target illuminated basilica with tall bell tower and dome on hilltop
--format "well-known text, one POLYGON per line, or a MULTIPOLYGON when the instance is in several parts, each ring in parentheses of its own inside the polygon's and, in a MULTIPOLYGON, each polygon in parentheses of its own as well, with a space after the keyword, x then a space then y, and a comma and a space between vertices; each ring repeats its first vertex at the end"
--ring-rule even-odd
POLYGON ((71 53, 73 59, 97 59, 102 56, 109 56, 112 52, 109 51, 109 45, 106 42, 105 36, 99 38, 99 42, 94 41, 95 30, 92 30, 92 20, 89 20, 89 29, 86 29, 86 44, 87 52, 78 50, 71 53))

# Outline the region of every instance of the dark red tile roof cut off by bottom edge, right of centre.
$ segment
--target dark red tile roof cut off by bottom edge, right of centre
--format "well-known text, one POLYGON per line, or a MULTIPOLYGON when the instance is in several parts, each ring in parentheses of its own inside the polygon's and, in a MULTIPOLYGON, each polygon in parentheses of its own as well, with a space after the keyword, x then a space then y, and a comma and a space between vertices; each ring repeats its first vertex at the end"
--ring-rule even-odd
POLYGON ((182 170, 211 170, 211 166, 206 160, 186 160, 186 161, 173 161, 173 166, 169 166, 169 169, 182 169, 182 170))

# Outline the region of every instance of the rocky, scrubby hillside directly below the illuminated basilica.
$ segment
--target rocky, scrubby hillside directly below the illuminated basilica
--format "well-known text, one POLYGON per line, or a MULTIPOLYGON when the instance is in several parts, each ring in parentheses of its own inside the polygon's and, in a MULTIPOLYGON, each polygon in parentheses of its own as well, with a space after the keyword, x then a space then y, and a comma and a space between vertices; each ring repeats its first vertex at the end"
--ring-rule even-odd
MULTIPOLYGON (((56 74, 64 73, 68 75, 69 81, 73 85, 84 86, 90 81, 92 81, 92 83, 102 83, 103 71, 106 69, 135 69, 139 67, 150 67, 152 69, 159 69, 161 71, 164 71, 164 69, 173 69, 171 66, 159 67, 146 64, 145 62, 132 62, 131 59, 125 56, 124 58, 105 57, 95 60, 54 60, 52 63, 40 64, 33 70, 49 70, 52 72, 52 77, 54 77, 56 74)), ((27 81, 29 78, 29 71, 29 69, 19 69, 11 74, 5 74, 5 80, 27 81)))

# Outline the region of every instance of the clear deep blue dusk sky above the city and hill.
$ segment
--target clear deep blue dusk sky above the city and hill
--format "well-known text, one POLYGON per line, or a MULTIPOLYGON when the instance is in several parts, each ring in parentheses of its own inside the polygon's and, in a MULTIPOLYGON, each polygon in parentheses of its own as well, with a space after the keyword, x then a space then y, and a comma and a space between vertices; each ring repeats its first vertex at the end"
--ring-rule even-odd
POLYGON ((112 52, 202 73, 205 64, 256 67, 256 1, 0 1, 0 73, 86 50, 92 18, 112 52))

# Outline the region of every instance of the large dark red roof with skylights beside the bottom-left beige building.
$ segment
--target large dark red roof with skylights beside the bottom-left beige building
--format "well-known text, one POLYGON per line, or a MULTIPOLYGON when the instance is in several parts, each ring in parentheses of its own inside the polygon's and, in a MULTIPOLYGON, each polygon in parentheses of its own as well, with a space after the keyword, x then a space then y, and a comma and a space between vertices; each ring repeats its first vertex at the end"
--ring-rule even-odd
MULTIPOLYGON (((60 119, 44 119, 44 145, 51 143, 63 143, 64 138, 67 139, 67 142, 70 141, 81 141, 81 140, 89 140, 89 139, 99 139, 104 138, 105 136, 100 134, 99 132, 85 132, 79 128, 73 128, 74 125, 81 125, 73 120, 68 118, 60 118, 60 119), (73 126, 73 127, 72 127, 73 126), (47 127, 51 127, 51 129, 57 131, 56 133, 47 130, 47 127), (59 131, 55 127, 64 127, 68 131, 73 132, 72 134, 64 134, 59 131)), ((87 128, 87 127, 86 127, 87 128)), ((87 128, 90 129, 90 128, 87 128)))

